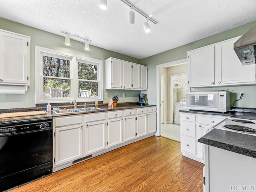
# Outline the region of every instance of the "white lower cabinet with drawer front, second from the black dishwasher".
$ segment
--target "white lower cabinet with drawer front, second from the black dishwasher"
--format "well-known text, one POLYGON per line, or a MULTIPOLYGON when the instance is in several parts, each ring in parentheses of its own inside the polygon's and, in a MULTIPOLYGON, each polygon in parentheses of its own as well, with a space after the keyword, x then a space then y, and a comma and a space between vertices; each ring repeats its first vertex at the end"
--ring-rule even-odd
POLYGON ((85 154, 104 150, 106 148, 106 114, 86 115, 85 119, 85 154))

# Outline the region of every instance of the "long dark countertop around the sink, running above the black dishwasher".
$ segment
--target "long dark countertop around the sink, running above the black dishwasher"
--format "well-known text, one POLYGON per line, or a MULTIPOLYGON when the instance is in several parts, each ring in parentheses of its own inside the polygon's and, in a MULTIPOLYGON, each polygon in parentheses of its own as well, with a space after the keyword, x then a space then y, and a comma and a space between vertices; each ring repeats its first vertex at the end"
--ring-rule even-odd
MULTIPOLYGON (((11 122, 11 121, 20 121, 20 120, 29 120, 29 119, 40 119, 40 118, 53 118, 59 116, 69 116, 69 115, 78 115, 78 114, 88 114, 88 113, 98 113, 98 112, 109 112, 115 110, 128 110, 134 108, 146 108, 146 107, 154 107, 156 105, 147 105, 147 106, 140 106, 138 104, 120 104, 120 106, 116 107, 108 107, 107 104, 102 104, 98 106, 98 108, 102 110, 94 110, 94 111, 81 111, 81 112, 70 112, 70 113, 62 113, 62 114, 55 114, 52 111, 48 111, 45 115, 34 115, 34 116, 23 116, 23 117, 12 117, 12 118, 0 118, 0 124, 3 122, 11 122)), ((65 106, 64 106, 65 107, 65 106)), ((70 107, 70 106, 68 106, 70 107)), ((67 108, 68 108, 67 107, 67 108)), ((72 106, 71 106, 72 107, 72 106)), ((78 106, 78 108, 82 108, 83 106, 78 106)), ((90 107, 90 106, 87 106, 90 107)), ((63 108, 63 107, 62 107, 63 108)), ((46 110, 46 108, 22 108, 22 109, 11 109, 9 112, 22 112, 22 111, 37 111, 37 110, 46 110)), ((8 110, 6 110, 8 112, 8 110)))

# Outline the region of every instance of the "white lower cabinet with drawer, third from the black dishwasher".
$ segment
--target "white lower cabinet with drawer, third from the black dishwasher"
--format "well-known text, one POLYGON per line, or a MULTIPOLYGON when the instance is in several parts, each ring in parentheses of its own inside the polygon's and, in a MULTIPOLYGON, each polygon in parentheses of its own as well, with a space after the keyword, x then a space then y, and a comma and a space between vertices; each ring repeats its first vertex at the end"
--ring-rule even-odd
POLYGON ((112 147, 123 142, 123 118, 122 111, 108 113, 108 147, 112 147), (113 118, 115 117, 115 118, 113 118))

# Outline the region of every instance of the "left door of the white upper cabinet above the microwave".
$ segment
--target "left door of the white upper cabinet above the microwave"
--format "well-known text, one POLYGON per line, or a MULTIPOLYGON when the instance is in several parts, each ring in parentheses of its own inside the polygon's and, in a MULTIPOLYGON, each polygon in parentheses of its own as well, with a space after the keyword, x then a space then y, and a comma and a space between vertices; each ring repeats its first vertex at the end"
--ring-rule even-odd
POLYGON ((188 52, 188 86, 214 84, 214 46, 188 52))

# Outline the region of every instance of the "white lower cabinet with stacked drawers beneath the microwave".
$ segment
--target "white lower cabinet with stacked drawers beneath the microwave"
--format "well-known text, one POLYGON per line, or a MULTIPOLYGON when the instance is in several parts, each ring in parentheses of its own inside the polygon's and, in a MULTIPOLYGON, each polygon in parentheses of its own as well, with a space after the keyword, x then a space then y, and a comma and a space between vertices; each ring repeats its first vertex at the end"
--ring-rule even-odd
POLYGON ((224 118, 224 116, 181 113, 180 148, 182 155, 203 163, 204 144, 197 142, 197 140, 224 118))

